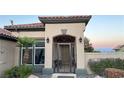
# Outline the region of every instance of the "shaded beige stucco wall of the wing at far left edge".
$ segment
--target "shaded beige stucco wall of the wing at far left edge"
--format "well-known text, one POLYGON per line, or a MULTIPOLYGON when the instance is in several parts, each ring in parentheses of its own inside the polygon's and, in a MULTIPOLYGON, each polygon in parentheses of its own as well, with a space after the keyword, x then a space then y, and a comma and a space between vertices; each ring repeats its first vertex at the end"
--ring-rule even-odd
POLYGON ((0 40, 0 76, 15 65, 15 47, 15 42, 0 40))

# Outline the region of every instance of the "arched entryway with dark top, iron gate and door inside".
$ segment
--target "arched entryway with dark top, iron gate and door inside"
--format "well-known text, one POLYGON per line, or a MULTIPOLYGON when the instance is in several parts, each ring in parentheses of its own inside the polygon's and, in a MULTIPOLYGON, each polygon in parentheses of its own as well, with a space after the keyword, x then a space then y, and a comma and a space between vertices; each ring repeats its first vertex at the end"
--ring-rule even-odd
POLYGON ((53 38, 53 68, 56 73, 74 73, 76 68, 75 37, 59 35, 53 38))

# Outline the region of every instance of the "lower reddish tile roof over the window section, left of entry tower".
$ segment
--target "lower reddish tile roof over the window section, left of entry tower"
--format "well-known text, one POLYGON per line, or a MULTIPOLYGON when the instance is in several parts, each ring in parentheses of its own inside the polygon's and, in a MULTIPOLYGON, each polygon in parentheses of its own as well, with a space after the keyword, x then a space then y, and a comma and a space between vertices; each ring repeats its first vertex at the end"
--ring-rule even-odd
POLYGON ((23 29, 23 28, 44 28, 43 23, 32 23, 32 24, 19 24, 19 25, 8 25, 4 26, 5 29, 23 29))

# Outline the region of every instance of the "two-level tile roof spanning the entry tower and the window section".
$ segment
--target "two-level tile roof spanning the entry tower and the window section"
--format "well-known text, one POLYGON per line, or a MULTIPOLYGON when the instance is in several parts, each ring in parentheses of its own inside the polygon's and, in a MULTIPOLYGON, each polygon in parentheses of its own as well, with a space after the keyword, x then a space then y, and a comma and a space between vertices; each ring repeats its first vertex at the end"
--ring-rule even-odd
POLYGON ((17 29, 42 29, 45 30, 44 23, 80 23, 89 22, 90 15, 78 15, 78 16, 39 16, 38 17, 41 23, 31 23, 31 24, 17 24, 17 25, 8 25, 4 26, 4 29, 7 30, 17 30, 17 29))

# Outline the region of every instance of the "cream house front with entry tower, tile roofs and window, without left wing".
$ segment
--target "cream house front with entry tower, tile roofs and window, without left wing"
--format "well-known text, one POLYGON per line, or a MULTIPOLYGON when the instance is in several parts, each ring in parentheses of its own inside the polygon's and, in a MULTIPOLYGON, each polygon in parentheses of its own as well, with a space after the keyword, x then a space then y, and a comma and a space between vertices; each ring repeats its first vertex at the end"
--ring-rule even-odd
MULTIPOLYGON (((43 66, 44 74, 84 73, 84 31, 91 16, 39 17, 41 23, 4 26, 16 37, 37 40, 29 64, 43 66)), ((23 64, 24 48, 20 51, 23 64)))

